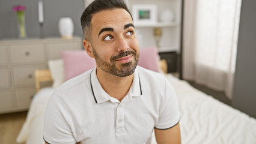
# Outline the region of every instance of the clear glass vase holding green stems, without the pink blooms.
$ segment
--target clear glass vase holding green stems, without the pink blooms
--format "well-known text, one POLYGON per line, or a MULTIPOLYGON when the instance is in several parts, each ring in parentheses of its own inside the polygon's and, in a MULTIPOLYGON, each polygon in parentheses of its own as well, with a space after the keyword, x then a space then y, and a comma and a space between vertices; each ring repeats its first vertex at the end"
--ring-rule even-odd
POLYGON ((17 13, 19 38, 26 37, 25 13, 17 13))

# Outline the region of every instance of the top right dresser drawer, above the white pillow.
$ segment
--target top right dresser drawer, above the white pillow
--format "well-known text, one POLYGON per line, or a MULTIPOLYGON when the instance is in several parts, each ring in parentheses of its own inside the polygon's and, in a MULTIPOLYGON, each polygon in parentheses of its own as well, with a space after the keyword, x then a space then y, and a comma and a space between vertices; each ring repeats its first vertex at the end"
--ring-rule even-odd
POLYGON ((61 59, 62 50, 79 50, 79 43, 50 43, 47 47, 48 59, 61 59))

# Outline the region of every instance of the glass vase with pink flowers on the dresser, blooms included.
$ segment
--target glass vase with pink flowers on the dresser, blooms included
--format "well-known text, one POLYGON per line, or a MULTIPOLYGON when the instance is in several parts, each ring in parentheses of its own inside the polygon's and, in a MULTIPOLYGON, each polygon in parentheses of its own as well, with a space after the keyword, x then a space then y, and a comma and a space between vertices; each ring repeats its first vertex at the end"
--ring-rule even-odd
POLYGON ((25 28, 25 10, 26 7, 24 5, 14 5, 13 11, 16 12, 18 19, 18 28, 19 28, 19 37, 26 37, 26 28, 25 28))

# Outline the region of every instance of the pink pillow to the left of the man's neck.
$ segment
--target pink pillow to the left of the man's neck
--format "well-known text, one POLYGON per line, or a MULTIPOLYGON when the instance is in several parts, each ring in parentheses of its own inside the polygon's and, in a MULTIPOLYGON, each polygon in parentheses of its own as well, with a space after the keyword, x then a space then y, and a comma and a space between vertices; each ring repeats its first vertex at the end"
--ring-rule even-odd
POLYGON ((65 80, 96 67, 95 60, 85 50, 64 50, 61 55, 64 61, 65 80))

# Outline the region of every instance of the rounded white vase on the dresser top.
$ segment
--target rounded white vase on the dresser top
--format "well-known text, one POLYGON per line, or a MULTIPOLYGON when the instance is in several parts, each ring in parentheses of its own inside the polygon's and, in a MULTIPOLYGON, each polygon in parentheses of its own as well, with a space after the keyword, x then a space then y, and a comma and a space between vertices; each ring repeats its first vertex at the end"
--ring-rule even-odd
POLYGON ((73 38, 74 25, 70 17, 61 17, 59 19, 59 34, 62 38, 73 38))

